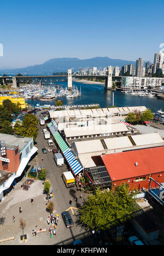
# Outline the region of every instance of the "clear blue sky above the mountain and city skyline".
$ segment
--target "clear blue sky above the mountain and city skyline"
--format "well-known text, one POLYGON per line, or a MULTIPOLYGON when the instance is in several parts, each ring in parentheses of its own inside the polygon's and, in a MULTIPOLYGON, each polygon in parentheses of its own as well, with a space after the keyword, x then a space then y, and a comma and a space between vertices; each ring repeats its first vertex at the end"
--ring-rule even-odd
POLYGON ((164 43, 163 0, 0 0, 0 67, 56 57, 154 61, 164 43))

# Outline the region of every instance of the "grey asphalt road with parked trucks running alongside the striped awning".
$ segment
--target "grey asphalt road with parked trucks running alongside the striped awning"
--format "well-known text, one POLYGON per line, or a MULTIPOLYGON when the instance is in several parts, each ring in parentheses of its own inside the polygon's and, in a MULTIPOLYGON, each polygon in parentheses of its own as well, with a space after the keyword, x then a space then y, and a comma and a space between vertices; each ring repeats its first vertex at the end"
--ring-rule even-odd
MULTIPOLYGON (((61 167, 57 167, 55 160, 53 158, 53 154, 52 153, 47 153, 47 154, 43 154, 42 152, 42 148, 48 147, 48 139, 44 139, 44 135, 42 133, 43 129, 46 127, 46 125, 42 126, 39 129, 38 132, 38 136, 36 139, 36 146, 38 148, 38 163, 40 166, 45 167, 48 175, 47 178, 49 179, 50 183, 51 183, 51 187, 53 190, 53 194, 54 194, 54 204, 55 204, 55 211, 60 214, 61 216, 61 212, 66 211, 69 209, 69 200, 73 200, 72 202, 72 210, 74 214, 77 214, 77 208, 79 203, 82 203, 82 201, 80 201, 79 197, 81 195, 81 193, 78 191, 76 187, 74 188, 66 188, 65 183, 63 182, 62 179, 62 172, 66 172, 68 171, 67 166, 61 166, 61 167), (43 157, 43 161, 41 160, 43 157), (78 202, 74 201, 74 196, 78 196, 78 202)), ((54 144, 54 147, 55 144, 54 144)), ((75 215, 73 215, 71 209, 69 209, 69 213, 71 214, 71 217, 73 219, 73 222, 75 222, 76 217, 75 215)), ((60 223, 60 230, 61 232, 61 241, 58 241, 60 245, 62 245, 63 243, 72 243, 74 240, 83 238, 84 235, 81 236, 81 234, 84 234, 84 230, 80 231, 79 226, 76 226, 74 224, 74 226, 72 228, 66 228, 65 224, 63 222, 60 223)), ((58 231, 57 231, 58 234, 58 231)))

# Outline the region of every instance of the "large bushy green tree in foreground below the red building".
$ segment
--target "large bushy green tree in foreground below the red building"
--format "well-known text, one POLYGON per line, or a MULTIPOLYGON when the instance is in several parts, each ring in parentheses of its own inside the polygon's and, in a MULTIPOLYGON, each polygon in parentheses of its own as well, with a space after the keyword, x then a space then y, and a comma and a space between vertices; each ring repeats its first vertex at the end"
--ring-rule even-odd
POLYGON ((123 224, 138 210, 134 195, 134 190, 129 193, 126 184, 106 193, 98 189, 79 208, 78 222, 85 229, 96 231, 123 224))

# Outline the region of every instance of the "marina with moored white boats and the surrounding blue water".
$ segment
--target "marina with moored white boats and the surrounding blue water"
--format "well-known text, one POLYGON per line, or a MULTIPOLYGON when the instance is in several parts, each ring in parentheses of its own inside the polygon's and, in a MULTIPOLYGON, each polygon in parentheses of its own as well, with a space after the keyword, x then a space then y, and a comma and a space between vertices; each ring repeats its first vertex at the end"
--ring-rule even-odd
MULTIPOLYGON (((3 92, 1 96, 7 95, 3 92)), ((153 113, 164 110, 163 100, 157 98, 153 91, 106 91, 102 84, 84 84, 73 82, 73 89, 68 90, 67 82, 39 84, 25 84, 8 95, 12 97, 25 97, 27 104, 32 106, 55 106, 57 100, 63 101, 64 105, 99 104, 102 108, 107 106, 146 106, 153 113), (16 93, 17 92, 17 93, 16 93), (113 98, 114 92, 114 98, 113 98), (113 102, 114 100, 114 102, 113 102)))

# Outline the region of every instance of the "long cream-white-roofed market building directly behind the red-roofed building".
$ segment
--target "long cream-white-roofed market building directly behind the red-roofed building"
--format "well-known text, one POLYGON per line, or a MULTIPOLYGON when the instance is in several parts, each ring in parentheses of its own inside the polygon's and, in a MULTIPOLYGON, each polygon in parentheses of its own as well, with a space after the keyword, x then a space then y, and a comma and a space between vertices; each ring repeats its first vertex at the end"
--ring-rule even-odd
POLYGON ((96 166, 101 155, 164 146, 159 133, 72 141, 71 147, 83 168, 96 166))

